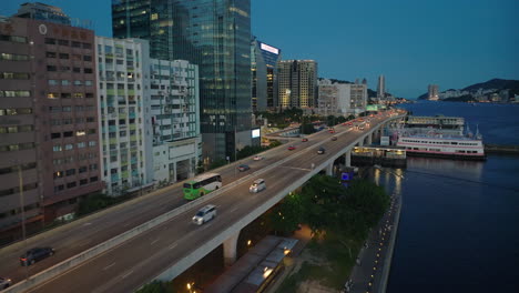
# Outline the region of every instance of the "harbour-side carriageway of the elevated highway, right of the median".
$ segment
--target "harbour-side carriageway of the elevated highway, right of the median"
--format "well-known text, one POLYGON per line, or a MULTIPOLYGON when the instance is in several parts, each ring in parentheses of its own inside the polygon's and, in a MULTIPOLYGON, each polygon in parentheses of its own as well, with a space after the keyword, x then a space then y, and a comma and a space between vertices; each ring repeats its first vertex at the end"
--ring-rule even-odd
MULTIPOLYGON (((37 287, 31 292, 129 292, 153 279, 171 280, 220 244, 237 239, 242 228, 313 174, 332 165, 335 159, 363 143, 383 122, 398 118, 381 117, 364 132, 339 127, 335 134, 337 141, 330 141, 333 134, 320 132, 311 135, 309 142, 299 142, 296 151, 283 146, 268 151, 264 153, 264 162, 251 162, 251 171, 255 172, 233 178, 228 173, 234 166, 222 169, 220 171, 224 175, 224 183, 227 182, 220 191, 80 252, 34 275, 34 281, 21 282, 8 292, 20 292, 34 285, 37 287), (326 148, 325 155, 316 154, 318 145, 326 148), (311 163, 316 168, 312 169, 311 163), (252 195, 248 185, 258 176, 266 180, 267 190, 252 195), (218 206, 218 218, 203 226, 194 226, 191 216, 207 202, 218 206), (79 263, 81 265, 70 270, 79 263), (50 277, 53 279, 43 283, 50 277)), ((248 163, 247 160, 237 163, 243 162, 248 163)), ((180 186, 175 188, 180 190, 180 186)), ((176 193, 181 195, 180 191, 176 193)))

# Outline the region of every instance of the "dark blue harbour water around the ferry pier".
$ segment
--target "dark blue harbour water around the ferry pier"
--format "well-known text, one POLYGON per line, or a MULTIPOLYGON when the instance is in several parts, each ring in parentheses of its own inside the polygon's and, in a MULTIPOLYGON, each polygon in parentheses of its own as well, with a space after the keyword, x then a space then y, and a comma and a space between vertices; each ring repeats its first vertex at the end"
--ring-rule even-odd
MULTIPOLYGON (((419 102, 415 115, 464 117, 485 143, 519 144, 519 105, 419 102)), ((519 156, 485 162, 408 158, 373 170, 403 196, 388 293, 516 292, 519 287, 519 156), (394 175, 394 173, 404 176, 394 175)))

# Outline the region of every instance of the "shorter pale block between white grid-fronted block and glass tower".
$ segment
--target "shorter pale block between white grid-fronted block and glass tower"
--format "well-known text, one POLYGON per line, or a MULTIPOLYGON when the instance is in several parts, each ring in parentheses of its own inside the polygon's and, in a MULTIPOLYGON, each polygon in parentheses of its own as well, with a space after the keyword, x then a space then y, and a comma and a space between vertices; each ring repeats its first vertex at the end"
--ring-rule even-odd
POLYGON ((199 67, 151 59, 150 72, 154 182, 194 176, 202 154, 199 67))

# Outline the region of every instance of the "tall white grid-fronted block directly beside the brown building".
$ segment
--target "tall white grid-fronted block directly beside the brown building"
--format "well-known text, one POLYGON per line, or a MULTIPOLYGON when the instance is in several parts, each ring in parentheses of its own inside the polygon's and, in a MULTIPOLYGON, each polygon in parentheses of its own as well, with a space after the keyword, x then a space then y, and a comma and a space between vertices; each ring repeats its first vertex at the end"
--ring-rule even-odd
POLYGON ((153 183, 147 41, 95 38, 102 178, 120 195, 153 183))

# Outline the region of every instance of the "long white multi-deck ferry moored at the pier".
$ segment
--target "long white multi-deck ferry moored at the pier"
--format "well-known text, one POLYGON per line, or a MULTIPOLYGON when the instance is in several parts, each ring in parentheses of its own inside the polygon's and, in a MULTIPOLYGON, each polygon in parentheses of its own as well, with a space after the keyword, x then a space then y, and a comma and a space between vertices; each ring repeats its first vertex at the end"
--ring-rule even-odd
POLYGON ((438 156, 464 160, 486 160, 482 138, 477 131, 472 135, 467 128, 464 133, 462 118, 413 118, 410 125, 399 129, 395 134, 397 146, 406 149, 408 155, 438 156), (447 120, 446 120, 447 119, 447 120), (417 127, 417 121, 427 121, 426 128, 417 127), (446 123, 448 121, 449 123, 446 123), (441 129, 441 125, 448 125, 441 129))

